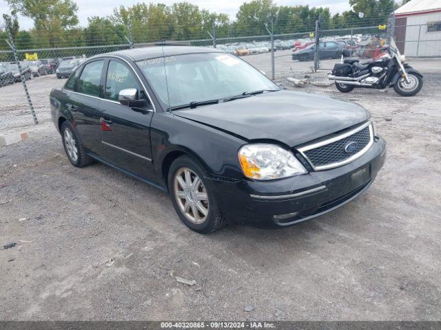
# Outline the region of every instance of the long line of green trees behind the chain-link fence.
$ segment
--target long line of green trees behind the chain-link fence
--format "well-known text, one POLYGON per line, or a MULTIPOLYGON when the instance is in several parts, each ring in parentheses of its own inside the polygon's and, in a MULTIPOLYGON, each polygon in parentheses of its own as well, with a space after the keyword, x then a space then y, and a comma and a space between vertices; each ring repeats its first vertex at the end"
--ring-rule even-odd
MULTIPOLYGON (((314 32, 319 18, 322 30, 375 26, 387 22, 395 4, 393 0, 349 0, 351 10, 332 16, 329 8, 278 6, 273 0, 252 0, 240 5, 236 19, 231 21, 226 14, 209 12, 186 1, 170 6, 141 2, 114 8, 110 17, 90 17, 82 28, 78 26, 74 0, 6 1, 12 9, 12 34, 21 50, 127 44, 127 39, 134 43, 209 39, 207 32, 212 34, 213 30, 218 38, 267 35, 265 25, 275 34, 307 34, 314 32), (20 31, 16 12, 30 17, 34 28, 20 31)), ((0 31, 0 37, 3 34, 0 31)), ((8 46, 0 41, 0 49, 8 50, 8 46)))

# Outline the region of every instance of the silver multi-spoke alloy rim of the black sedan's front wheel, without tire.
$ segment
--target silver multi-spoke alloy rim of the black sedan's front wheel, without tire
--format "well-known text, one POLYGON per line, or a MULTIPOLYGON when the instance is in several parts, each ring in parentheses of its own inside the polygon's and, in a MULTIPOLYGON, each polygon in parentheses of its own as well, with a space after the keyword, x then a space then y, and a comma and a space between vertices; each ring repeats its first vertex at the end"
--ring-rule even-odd
POLYGON ((208 217, 208 195, 201 180, 193 170, 179 168, 174 175, 174 197, 185 218, 201 224, 208 217))

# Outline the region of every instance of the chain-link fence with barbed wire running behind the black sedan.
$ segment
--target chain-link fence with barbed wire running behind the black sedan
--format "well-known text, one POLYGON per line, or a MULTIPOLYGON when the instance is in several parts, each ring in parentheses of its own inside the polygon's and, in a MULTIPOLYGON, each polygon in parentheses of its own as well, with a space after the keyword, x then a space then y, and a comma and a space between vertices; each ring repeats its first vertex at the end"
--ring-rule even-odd
MULTIPOLYGON (((37 117, 48 119, 50 89, 62 86, 63 78, 68 78, 85 58, 136 47, 216 47, 240 56, 276 80, 293 74, 329 71, 335 63, 349 56, 373 58, 391 37, 396 39, 400 51, 406 56, 441 56, 441 14, 433 14, 429 21, 419 20, 414 17, 395 18, 391 14, 380 25, 326 30, 320 28, 319 18, 315 30, 293 34, 274 34, 270 22, 265 25, 267 34, 222 38, 216 36, 216 27, 213 26, 211 31, 206 31, 205 39, 136 43, 129 33, 119 36, 119 40, 127 43, 40 49, 15 49, 14 41, 9 36, 10 50, 0 51, 0 109, 11 111, 12 115, 31 114, 34 123, 38 122, 37 117), (21 87, 8 86, 20 82, 21 87), (23 89, 23 98, 9 100, 8 88, 16 93, 17 89, 23 89)), ((130 28, 127 30, 130 32, 130 28)), ((139 38, 136 39, 139 41, 139 38)))

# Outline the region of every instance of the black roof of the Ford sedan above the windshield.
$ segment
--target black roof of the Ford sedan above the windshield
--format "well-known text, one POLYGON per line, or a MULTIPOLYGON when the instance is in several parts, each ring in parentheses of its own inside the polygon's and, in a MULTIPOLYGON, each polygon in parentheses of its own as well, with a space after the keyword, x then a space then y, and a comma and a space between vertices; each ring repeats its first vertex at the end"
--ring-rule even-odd
POLYGON ((215 48, 209 47, 193 47, 193 46, 154 46, 154 47, 142 47, 142 48, 133 48, 132 50, 119 50, 117 52, 110 52, 106 54, 100 54, 94 56, 122 56, 126 58, 132 59, 132 61, 141 61, 148 60, 150 58, 156 58, 161 56, 174 56, 174 55, 183 55, 183 54, 195 54, 195 53, 213 53, 220 52, 223 53, 223 50, 218 50, 215 48))

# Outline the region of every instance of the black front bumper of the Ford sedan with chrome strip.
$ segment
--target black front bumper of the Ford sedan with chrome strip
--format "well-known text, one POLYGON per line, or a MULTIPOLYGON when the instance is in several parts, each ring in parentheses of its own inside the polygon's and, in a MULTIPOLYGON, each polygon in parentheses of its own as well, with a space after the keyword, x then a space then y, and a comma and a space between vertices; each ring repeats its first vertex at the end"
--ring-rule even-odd
POLYGON ((293 225, 330 212, 367 190, 384 164, 381 137, 362 157, 338 168, 274 181, 213 179, 226 219, 260 227, 293 225))

